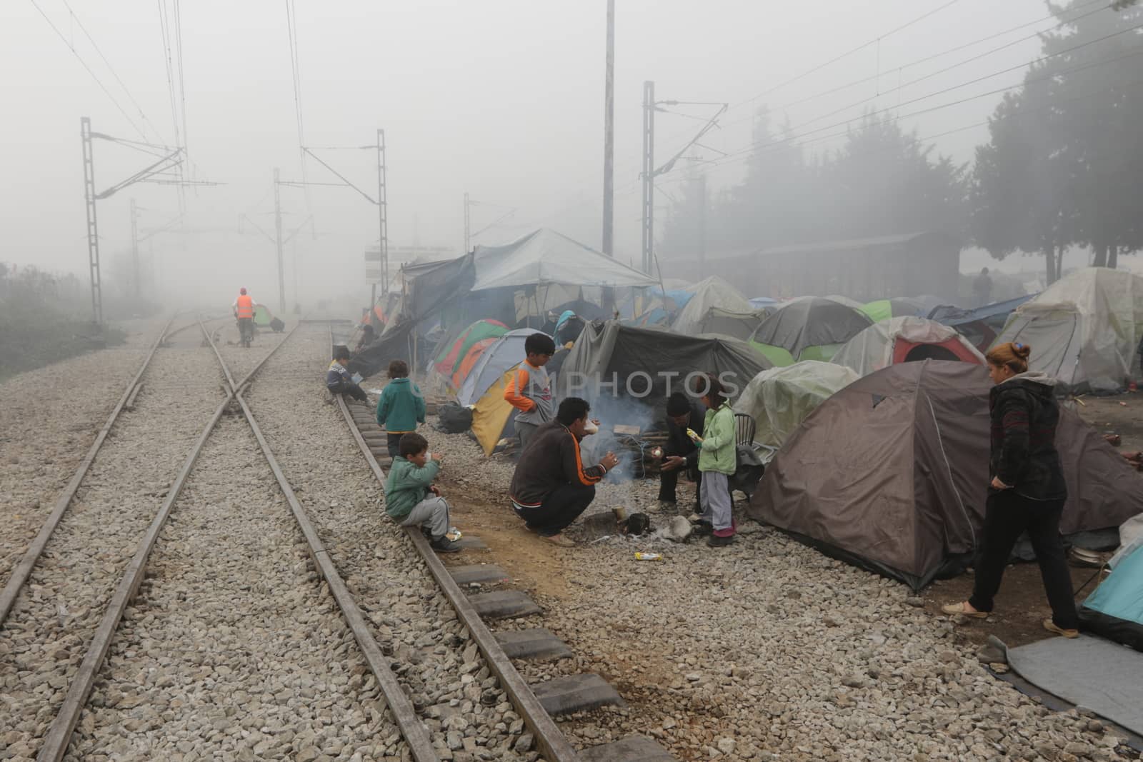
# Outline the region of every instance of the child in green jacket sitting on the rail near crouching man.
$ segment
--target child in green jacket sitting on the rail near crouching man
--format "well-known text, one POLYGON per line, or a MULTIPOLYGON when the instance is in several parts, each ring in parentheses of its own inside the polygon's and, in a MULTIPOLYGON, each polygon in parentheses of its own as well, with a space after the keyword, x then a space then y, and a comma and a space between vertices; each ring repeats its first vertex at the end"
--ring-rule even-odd
POLYGON ((430 455, 424 436, 401 436, 400 450, 385 480, 385 514, 402 527, 419 524, 438 553, 456 553, 461 546, 446 537, 448 503, 432 483, 439 472, 440 455, 430 455))

